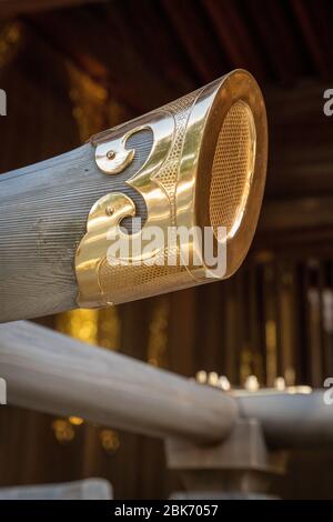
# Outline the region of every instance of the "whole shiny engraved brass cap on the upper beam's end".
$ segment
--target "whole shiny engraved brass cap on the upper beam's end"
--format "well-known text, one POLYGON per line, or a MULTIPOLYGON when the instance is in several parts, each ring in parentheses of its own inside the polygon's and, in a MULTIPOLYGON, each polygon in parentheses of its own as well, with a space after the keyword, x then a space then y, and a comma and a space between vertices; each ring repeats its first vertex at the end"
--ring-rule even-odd
POLYGON ((81 307, 103 307, 221 279, 206 265, 195 234, 168 244, 174 228, 213 230, 214 253, 222 243, 226 249, 222 278, 238 269, 251 244, 268 151, 264 102, 251 74, 233 71, 93 137, 95 161, 103 173, 117 175, 127 169, 135 154, 127 142, 142 129, 151 129, 153 145, 127 183, 144 199, 145 222, 130 237, 121 229, 124 218, 137 217, 134 202, 124 193, 111 192, 94 203, 75 257, 81 307), (151 227, 161 231, 162 243, 147 239, 151 227), (225 227, 223 235, 219 227, 225 227), (128 239, 128 255, 110 255, 115 237, 128 239), (138 239, 142 248, 135 251, 138 239), (170 255, 173 264, 167 262, 170 255))

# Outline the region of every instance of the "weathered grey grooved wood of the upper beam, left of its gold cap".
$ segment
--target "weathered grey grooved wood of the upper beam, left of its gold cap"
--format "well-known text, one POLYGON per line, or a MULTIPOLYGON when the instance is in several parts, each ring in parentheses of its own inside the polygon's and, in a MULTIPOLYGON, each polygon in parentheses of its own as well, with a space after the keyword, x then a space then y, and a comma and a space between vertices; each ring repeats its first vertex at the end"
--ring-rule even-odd
POLYGON ((0 321, 77 308, 74 255, 91 207, 112 191, 145 207, 129 179, 141 168, 152 132, 129 139, 135 157, 122 174, 103 174, 87 143, 65 154, 0 175, 0 321))

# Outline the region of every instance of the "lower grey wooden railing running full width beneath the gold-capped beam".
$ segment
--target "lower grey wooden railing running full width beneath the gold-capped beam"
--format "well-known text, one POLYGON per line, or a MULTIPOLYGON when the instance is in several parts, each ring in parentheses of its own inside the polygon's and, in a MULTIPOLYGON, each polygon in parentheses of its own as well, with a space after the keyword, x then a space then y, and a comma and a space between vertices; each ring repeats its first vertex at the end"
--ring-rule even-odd
POLYGON ((333 445, 322 391, 229 394, 26 321, 0 324, 0 373, 9 404, 134 433, 221 443, 243 418, 260 422, 273 449, 333 445))

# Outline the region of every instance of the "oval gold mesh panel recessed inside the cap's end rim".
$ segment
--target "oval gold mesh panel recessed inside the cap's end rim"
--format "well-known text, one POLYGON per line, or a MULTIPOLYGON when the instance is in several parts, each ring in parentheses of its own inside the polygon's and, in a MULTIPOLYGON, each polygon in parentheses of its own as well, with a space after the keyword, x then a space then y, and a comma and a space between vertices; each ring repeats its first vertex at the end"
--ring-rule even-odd
POLYGON ((244 212, 253 173, 255 128, 246 103, 238 101, 222 124, 214 154, 210 190, 210 221, 234 234, 244 212))

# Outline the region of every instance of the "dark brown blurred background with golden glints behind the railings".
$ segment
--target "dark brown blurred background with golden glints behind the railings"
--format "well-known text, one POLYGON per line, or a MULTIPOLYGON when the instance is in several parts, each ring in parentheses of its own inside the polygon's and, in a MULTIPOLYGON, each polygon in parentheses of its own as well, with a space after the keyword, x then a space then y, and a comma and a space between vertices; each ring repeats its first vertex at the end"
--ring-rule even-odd
MULTIPOLYGON (((332 32, 330 0, 2 0, 1 172, 73 149, 234 68, 255 76, 268 107, 263 209, 231 280, 39 322, 186 377, 322 387, 333 375, 333 117, 323 112, 332 32)), ((295 452, 274 492, 333 499, 332 466, 333 455, 295 452)), ((1 409, 0 485, 88 476, 110 480, 118 499, 180 486, 160 441, 75 412, 1 409)))

